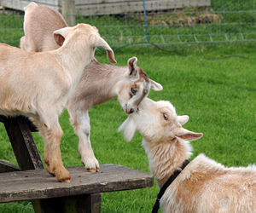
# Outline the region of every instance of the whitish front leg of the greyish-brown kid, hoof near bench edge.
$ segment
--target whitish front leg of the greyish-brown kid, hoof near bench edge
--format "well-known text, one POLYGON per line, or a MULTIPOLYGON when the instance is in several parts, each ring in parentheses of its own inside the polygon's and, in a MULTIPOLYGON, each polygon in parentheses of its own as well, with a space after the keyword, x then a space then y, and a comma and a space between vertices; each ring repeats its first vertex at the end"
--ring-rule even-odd
POLYGON ((76 134, 79 136, 79 155, 86 170, 96 172, 100 165, 96 159, 90 144, 90 118, 88 111, 68 111, 70 121, 73 124, 76 134))

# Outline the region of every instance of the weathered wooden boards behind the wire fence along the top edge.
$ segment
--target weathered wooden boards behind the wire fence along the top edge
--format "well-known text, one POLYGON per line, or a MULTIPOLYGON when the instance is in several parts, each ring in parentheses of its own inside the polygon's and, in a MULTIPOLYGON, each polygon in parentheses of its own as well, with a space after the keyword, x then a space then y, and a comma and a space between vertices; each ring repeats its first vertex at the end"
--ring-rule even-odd
MULTIPOLYGON (((61 12, 61 0, 35 0, 41 6, 48 6, 61 12)), ((30 3, 29 0, 2 0, 2 6, 11 9, 23 10, 30 3)), ((146 0, 147 11, 160 9, 180 9, 189 6, 211 6, 211 0, 146 0)), ((127 12, 143 11, 143 1, 122 1, 122 0, 96 0, 96 1, 75 1, 75 14, 122 14, 127 12)))

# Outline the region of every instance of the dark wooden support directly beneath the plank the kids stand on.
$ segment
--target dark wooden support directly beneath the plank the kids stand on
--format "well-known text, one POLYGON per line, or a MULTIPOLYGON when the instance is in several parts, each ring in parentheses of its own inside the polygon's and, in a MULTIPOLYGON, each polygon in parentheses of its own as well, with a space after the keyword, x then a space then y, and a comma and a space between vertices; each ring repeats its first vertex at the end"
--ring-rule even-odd
POLYGON ((37 199, 32 202, 35 213, 100 213, 102 196, 78 195, 55 199, 37 199))

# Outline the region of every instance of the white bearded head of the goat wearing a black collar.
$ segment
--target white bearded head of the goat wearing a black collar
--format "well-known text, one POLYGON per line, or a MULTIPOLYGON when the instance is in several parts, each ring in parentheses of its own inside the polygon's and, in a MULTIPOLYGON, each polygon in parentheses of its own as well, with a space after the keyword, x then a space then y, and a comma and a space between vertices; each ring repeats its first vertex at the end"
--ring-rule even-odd
POLYGON ((129 115, 119 127, 119 131, 124 131, 127 141, 131 141, 138 131, 145 141, 152 144, 178 139, 195 141, 201 138, 201 133, 183 129, 182 125, 188 120, 189 116, 177 116, 169 101, 155 102, 146 98, 141 102, 139 110, 129 115))

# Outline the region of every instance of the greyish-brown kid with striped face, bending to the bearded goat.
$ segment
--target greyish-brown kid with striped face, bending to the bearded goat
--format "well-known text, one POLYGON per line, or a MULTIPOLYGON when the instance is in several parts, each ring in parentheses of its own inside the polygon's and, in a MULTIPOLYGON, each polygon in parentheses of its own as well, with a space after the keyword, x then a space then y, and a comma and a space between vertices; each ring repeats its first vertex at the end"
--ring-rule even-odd
MULTIPOLYGON (((25 11, 25 37, 20 39, 20 47, 32 52, 60 48, 51 34, 67 26, 62 15, 36 3, 30 3, 25 11)), ((150 88, 161 90, 162 86, 150 80, 143 69, 137 66, 136 57, 128 60, 128 66, 101 64, 95 59, 84 68, 78 87, 68 101, 67 111, 79 135, 79 154, 87 170, 99 170, 99 163, 90 145, 90 108, 118 97, 120 105, 129 114, 137 110, 150 88)))

